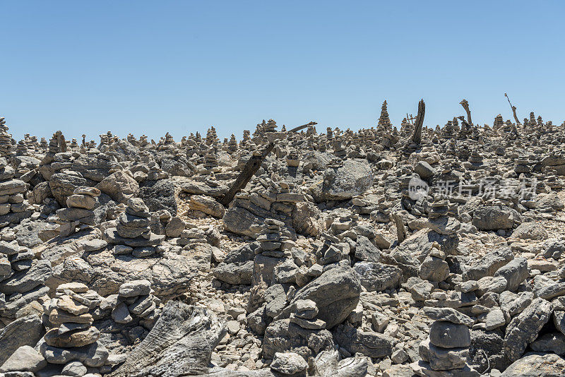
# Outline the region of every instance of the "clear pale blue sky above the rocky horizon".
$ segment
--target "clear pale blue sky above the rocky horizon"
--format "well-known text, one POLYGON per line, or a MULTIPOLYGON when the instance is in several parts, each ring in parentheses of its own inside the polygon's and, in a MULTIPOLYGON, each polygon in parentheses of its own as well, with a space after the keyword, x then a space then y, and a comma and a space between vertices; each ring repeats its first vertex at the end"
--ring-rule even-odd
POLYGON ((23 133, 176 140, 262 119, 565 119, 565 1, 4 1, 0 114, 23 133))

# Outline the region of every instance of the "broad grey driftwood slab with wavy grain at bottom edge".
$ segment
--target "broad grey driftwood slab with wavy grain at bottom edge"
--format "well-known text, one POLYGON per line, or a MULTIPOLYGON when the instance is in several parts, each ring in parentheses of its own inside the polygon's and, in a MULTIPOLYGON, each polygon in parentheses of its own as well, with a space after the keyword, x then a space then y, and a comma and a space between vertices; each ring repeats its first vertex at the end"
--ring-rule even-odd
POLYGON ((225 333, 213 312, 169 301, 147 337, 110 376, 201 376, 225 333))

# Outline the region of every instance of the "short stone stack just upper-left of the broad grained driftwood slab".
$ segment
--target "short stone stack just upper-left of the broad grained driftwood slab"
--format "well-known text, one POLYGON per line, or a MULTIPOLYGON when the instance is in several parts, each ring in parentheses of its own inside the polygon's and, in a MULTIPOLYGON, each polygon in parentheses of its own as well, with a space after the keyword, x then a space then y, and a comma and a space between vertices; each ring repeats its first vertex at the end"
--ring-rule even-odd
POLYGON ((118 294, 109 299, 115 299, 112 319, 117 323, 138 321, 150 330, 161 313, 161 301, 153 296, 153 289, 148 280, 125 282, 119 287, 118 294))

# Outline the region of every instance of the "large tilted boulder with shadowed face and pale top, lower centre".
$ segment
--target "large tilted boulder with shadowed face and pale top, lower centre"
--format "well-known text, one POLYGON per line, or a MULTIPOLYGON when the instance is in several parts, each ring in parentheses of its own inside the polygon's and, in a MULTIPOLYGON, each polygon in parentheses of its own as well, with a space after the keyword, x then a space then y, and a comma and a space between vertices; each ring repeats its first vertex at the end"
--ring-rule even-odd
POLYGON ((327 328, 333 328, 355 309, 360 294, 361 282, 355 270, 348 266, 335 267, 299 289, 289 308, 298 300, 312 300, 318 307, 317 318, 325 321, 327 328))

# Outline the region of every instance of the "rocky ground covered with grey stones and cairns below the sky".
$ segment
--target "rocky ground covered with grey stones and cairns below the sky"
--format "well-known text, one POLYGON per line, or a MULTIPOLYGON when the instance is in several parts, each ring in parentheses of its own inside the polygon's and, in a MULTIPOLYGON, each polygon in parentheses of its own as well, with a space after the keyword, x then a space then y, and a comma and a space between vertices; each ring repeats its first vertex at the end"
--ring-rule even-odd
POLYGON ((565 376, 565 124, 5 123, 0 376, 565 376))

